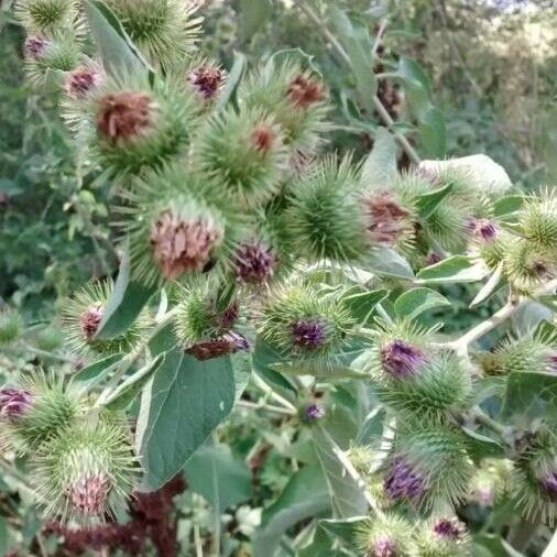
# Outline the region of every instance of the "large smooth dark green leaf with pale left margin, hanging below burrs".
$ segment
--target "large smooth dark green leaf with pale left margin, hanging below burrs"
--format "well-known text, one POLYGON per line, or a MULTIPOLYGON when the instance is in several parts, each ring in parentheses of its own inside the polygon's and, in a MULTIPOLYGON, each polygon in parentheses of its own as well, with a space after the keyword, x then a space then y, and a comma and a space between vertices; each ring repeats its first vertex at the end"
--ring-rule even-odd
POLYGON ((229 357, 199 361, 171 350, 143 391, 136 449, 146 489, 157 489, 179 470, 234 402, 229 357))

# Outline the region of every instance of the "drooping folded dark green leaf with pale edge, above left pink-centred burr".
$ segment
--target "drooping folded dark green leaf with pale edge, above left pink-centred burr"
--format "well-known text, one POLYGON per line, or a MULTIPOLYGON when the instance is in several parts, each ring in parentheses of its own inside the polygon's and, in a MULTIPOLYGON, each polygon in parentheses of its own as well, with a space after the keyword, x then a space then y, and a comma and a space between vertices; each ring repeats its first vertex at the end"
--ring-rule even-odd
POLYGON ((125 251, 114 290, 105 308, 96 339, 110 340, 123 335, 133 324, 143 306, 156 292, 156 285, 145 286, 131 280, 130 254, 125 251))

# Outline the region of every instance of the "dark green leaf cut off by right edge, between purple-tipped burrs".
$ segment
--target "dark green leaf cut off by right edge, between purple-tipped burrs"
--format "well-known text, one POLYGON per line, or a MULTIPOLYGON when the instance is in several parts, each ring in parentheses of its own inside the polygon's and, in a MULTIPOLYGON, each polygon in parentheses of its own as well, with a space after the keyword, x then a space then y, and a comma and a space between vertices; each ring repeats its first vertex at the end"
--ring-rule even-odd
POLYGON ((513 372, 506 378, 502 415, 557 421, 557 375, 555 373, 513 372))

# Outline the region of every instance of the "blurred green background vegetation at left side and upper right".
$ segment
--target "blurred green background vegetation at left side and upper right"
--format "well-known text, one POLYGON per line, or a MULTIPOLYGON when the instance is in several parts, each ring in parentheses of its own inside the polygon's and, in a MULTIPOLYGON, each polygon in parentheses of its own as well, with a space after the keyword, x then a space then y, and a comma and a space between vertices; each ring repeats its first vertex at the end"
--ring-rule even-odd
MULTIPOLYGON (((433 101, 445 117, 446 156, 483 152, 518 186, 555 183, 557 10, 551 2, 331 2, 348 9, 372 35, 382 30, 373 68, 380 76, 378 95, 411 140, 405 90, 389 77, 401 56, 416 61, 428 76, 433 101)), ((305 3, 318 11, 327 2, 305 3)), ((208 0, 203 12, 203 48, 225 67, 236 52, 250 64, 284 48, 315 56, 337 107, 331 148, 357 154, 370 149, 378 114, 354 109, 353 75, 295 1, 208 0)), ((107 188, 96 187, 95 170, 76 160, 56 116, 55 95, 25 84, 24 37, 9 4, 0 11, 0 301, 35 318, 77 284, 110 274, 116 258, 107 188)))

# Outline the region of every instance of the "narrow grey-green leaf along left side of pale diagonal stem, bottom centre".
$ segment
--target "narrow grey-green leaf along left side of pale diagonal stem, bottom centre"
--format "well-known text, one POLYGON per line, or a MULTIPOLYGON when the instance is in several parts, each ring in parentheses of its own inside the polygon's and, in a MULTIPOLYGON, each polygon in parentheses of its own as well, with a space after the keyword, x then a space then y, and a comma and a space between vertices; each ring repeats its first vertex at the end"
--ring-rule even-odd
POLYGON ((330 504, 334 515, 339 518, 361 516, 368 504, 363 493, 356 482, 346 473, 342 465, 335 455, 335 441, 330 435, 319 426, 312 428, 317 458, 327 477, 330 504))

